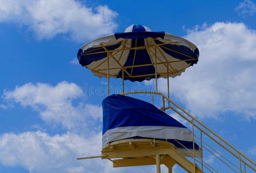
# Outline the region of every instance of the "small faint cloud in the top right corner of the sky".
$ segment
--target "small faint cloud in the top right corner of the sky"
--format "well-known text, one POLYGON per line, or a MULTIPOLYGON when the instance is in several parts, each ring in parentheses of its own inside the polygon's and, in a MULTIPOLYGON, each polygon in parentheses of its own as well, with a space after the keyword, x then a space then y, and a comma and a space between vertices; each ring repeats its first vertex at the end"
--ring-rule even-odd
POLYGON ((244 0, 236 6, 235 10, 242 15, 249 14, 253 15, 256 12, 256 5, 250 0, 244 0))

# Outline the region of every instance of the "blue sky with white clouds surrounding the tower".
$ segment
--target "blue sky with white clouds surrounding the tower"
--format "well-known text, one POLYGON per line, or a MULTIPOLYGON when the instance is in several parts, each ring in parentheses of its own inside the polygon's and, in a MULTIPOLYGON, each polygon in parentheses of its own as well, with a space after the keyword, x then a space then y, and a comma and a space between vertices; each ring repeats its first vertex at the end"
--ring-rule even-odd
POLYGON ((131 24, 198 46, 198 64, 170 79, 172 99, 255 160, 255 17, 254 0, 0 0, 0 172, 150 171, 75 160, 101 150, 105 95, 87 91, 106 87, 77 64, 77 50, 131 24))

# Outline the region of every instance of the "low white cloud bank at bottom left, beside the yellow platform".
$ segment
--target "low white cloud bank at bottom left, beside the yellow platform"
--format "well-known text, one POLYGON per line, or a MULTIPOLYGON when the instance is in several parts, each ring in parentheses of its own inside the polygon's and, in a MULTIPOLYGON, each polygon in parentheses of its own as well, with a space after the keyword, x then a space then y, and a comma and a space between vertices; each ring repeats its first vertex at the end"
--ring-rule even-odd
POLYGON ((49 136, 41 131, 0 136, 0 163, 29 172, 113 172, 107 160, 76 160, 101 155, 100 151, 101 133, 87 138, 73 133, 49 136))

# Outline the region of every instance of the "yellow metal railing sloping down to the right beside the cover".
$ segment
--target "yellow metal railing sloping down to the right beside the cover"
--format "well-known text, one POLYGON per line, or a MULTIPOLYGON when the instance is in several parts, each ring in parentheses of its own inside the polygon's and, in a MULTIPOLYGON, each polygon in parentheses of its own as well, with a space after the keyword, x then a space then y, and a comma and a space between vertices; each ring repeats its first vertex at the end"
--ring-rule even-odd
MULTIPOLYGON (((203 160, 203 155, 210 154, 210 156, 214 156, 216 159, 220 160, 224 166, 230 168, 233 172, 256 172, 256 163, 236 149, 234 146, 229 144, 223 138, 218 136, 218 134, 214 133, 214 131, 210 130, 207 126, 203 125, 198 119, 192 116, 189 112, 185 111, 179 105, 177 105, 174 101, 170 100, 167 96, 160 92, 146 92, 146 91, 135 91, 135 92, 124 92, 120 93, 120 95, 131 95, 131 94, 149 94, 152 95, 153 104, 154 104, 154 95, 159 95, 162 97, 162 111, 172 110, 176 112, 177 115, 180 115, 185 121, 190 123, 192 126, 193 133, 193 142, 197 142, 201 148, 202 158, 201 160, 195 158, 194 152, 194 143, 193 143, 193 152, 191 153, 193 157, 191 157, 191 161, 194 162, 194 166, 196 163, 201 164, 201 169, 206 168, 210 172, 218 172, 216 168, 210 166, 207 161, 203 160), (165 102, 167 101, 168 105, 165 107, 165 102), (194 129, 195 128, 195 129, 194 129), (196 135, 195 130, 199 131, 199 135, 196 135), (199 137, 200 136, 200 137, 199 137), (203 139, 204 138, 204 139, 203 139), (208 141, 208 142, 206 142, 208 141), (217 149, 214 149, 213 146, 217 145, 218 148, 222 149, 225 153, 229 154, 229 156, 224 156, 224 153, 218 152, 217 149), (236 163, 234 163, 236 161, 236 163), (251 171, 250 171, 251 170, 251 171)), ((188 149, 188 151, 190 151, 188 149)), ((191 151, 190 151, 191 152, 191 151)), ((221 170, 222 172, 222 170, 221 170)))

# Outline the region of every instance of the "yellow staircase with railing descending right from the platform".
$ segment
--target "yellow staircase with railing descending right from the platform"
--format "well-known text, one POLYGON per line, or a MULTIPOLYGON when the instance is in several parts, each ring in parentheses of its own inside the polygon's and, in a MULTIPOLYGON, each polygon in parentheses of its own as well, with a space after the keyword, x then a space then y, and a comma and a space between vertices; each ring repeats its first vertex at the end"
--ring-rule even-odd
POLYGON ((121 95, 131 95, 136 93, 149 94, 152 95, 153 98, 155 95, 161 96, 161 110, 172 110, 191 126, 194 142, 201 148, 201 157, 196 157, 195 153, 189 149, 187 150, 191 152, 191 157, 179 156, 177 154, 179 152, 175 148, 168 150, 172 151, 172 153, 167 152, 170 158, 175 160, 177 164, 188 172, 256 172, 256 163, 253 160, 238 151, 238 149, 210 130, 209 127, 203 125, 202 122, 198 121, 198 119, 185 111, 174 101, 170 100, 163 93, 140 91, 121 93, 121 95), (211 163, 206 160, 207 158, 205 156, 218 161, 218 166, 214 167, 211 165, 211 163), (181 159, 181 157, 184 158, 181 159))

